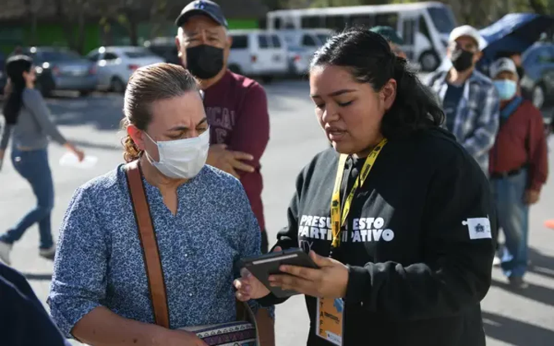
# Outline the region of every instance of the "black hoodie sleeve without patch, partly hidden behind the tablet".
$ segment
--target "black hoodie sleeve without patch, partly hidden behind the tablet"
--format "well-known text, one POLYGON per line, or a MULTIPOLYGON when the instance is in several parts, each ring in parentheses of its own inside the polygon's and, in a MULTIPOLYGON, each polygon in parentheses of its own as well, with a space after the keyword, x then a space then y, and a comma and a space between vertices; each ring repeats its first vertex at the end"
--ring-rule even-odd
MULTIPOLYGON (((304 170, 296 178, 296 192, 293 199, 290 201, 289 208, 286 210, 286 218, 288 224, 279 231, 277 234, 277 244, 273 247, 280 246, 281 249, 286 250, 291 247, 298 247, 298 204, 300 201, 300 193, 302 191, 302 185, 304 184, 304 170)), ((271 249, 271 251, 273 251, 271 249)), ((286 301, 288 298, 278 298, 272 293, 268 296, 257 299, 261 306, 268 307, 275 304, 280 304, 286 301)))

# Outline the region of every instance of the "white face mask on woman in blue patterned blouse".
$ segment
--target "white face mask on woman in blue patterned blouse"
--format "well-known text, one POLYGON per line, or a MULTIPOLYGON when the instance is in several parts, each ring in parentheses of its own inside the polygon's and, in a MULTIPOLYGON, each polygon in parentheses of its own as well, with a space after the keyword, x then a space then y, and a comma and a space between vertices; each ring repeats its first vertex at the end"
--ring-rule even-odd
MULTIPOLYGON (((146 133, 146 132, 145 132, 146 133)), ((209 128, 202 135, 184 140, 160 141, 156 143, 160 161, 155 162, 148 153, 146 157, 163 175, 174 179, 191 179, 196 177, 208 157, 209 128)))

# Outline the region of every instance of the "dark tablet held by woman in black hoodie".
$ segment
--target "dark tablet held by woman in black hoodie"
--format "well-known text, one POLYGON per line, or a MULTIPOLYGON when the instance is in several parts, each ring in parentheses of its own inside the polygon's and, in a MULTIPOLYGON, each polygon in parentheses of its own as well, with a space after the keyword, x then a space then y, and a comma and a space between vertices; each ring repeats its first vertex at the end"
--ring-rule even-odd
POLYGON ((243 268, 247 268, 261 283, 276 297, 287 298, 299 294, 295 291, 281 290, 280 287, 269 285, 269 276, 282 273, 281 265, 293 265, 317 269, 317 265, 302 249, 288 249, 279 252, 270 252, 255 258, 241 260, 243 268))

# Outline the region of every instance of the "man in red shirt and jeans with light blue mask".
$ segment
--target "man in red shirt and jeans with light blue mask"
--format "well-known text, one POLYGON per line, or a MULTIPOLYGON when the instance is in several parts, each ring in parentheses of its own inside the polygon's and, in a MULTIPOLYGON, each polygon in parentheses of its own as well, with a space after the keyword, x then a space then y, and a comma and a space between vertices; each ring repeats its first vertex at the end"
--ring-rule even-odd
POLYGON ((538 202, 548 175, 541 112, 519 95, 516 65, 496 60, 491 78, 500 96, 500 130, 489 154, 491 187, 506 238, 501 266, 515 288, 526 286, 529 206, 538 202))

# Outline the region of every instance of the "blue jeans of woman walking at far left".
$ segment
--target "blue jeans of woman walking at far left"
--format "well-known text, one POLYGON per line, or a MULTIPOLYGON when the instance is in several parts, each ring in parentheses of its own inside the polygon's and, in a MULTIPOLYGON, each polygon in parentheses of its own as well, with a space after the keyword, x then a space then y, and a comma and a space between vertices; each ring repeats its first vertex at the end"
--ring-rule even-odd
POLYGON ((25 178, 34 195, 37 197, 37 205, 31 209, 17 225, 9 229, 7 233, 0 235, 0 241, 13 244, 18 241, 25 231, 35 223, 38 223, 40 235, 40 249, 48 249, 54 245, 52 240, 52 225, 50 214, 54 207, 54 183, 52 172, 48 165, 48 152, 46 149, 33 151, 12 151, 12 163, 17 173, 25 178))

